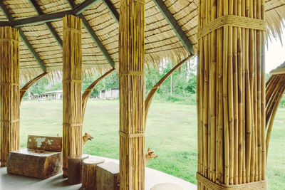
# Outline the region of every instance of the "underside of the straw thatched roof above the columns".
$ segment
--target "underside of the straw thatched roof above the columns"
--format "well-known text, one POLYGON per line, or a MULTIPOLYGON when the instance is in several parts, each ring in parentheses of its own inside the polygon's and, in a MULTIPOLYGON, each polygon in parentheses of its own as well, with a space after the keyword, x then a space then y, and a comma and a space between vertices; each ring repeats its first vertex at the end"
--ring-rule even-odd
MULTIPOLYGON (((120 0, 94 0, 93 3, 89 0, 2 0, 0 26, 4 26, 6 21, 11 21, 10 23, 14 21, 11 25, 19 26, 26 40, 31 44, 29 50, 23 40, 20 43, 22 79, 42 73, 43 65, 48 72, 54 74, 62 69, 62 49, 59 46, 63 35, 62 19, 54 19, 48 24, 43 22, 27 24, 28 20, 25 18, 76 9, 77 5, 84 3, 91 5, 86 6, 88 9, 82 9, 82 14, 93 31, 90 34, 90 31, 83 27, 83 70, 86 73, 108 70, 111 68, 109 63, 112 61, 115 67, 118 67, 119 24, 116 19, 118 19, 120 0), (21 22, 21 19, 24 21, 21 22), (59 42, 51 34, 51 29, 59 37, 59 42), (98 36, 102 45, 100 48, 91 37, 92 33, 98 36), (31 48, 35 51, 38 60, 31 53, 31 48)), ((145 63, 155 64, 164 58, 180 60, 181 57, 190 54, 190 43, 193 46, 192 53, 196 53, 197 6, 198 0, 146 0, 145 63), (163 5, 166 5, 167 9, 164 9, 163 5), (173 21, 178 24, 171 26, 170 23, 173 21)), ((285 0, 266 0, 269 36, 280 36, 285 24, 284 18, 285 0)), ((21 37, 23 39, 23 36, 21 37)))

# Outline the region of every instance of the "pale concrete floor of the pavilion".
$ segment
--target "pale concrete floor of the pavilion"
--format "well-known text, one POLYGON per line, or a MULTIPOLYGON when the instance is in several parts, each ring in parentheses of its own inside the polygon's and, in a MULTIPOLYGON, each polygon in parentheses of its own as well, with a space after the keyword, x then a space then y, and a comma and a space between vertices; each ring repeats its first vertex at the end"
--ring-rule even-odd
MULTIPOLYGON (((105 162, 119 163, 116 159, 105 159, 105 162)), ((152 186, 160 183, 172 183, 182 186, 184 190, 196 190, 197 186, 175 176, 162 173, 155 169, 145 169, 145 190, 150 190, 152 186)), ((7 174, 6 167, 0 168, 0 189, 2 190, 39 190, 39 189, 81 189, 81 184, 70 185, 62 174, 52 176, 49 179, 34 179, 26 176, 17 176, 7 174)), ((167 189, 165 189, 167 190, 167 189)))

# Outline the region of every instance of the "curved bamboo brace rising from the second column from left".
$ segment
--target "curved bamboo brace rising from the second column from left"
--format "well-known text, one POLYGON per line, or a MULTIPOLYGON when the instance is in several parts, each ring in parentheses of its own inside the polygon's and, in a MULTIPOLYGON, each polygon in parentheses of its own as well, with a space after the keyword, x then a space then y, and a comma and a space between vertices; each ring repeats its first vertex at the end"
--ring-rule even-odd
POLYGON ((95 86, 100 83, 101 80, 103 80, 106 76, 108 76, 110 73, 113 73, 115 68, 112 68, 108 72, 106 72, 104 75, 100 76, 97 80, 95 80, 88 88, 86 88, 85 92, 82 95, 82 122, 84 120, 84 115, 85 115, 85 110, 86 110, 86 105, 88 101, 88 97, 92 93, 92 90, 94 90, 95 86))

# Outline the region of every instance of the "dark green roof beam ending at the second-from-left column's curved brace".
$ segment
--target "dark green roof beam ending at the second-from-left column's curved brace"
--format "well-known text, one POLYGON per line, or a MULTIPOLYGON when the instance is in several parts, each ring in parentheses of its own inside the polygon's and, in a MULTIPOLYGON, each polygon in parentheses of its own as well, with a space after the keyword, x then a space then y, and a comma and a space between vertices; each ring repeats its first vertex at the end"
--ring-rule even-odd
MULTIPOLYGON (((72 9, 75 9, 76 7, 76 3, 73 0, 68 0, 68 4, 69 6, 71 6, 72 9)), ((86 30, 88 31, 88 33, 90 34, 91 38, 93 39, 93 41, 95 42, 95 44, 98 46, 98 48, 100 49, 101 53, 103 53, 103 55, 105 56, 105 58, 108 60, 108 62, 110 63, 112 68, 115 68, 115 61, 113 60, 113 58, 111 58, 110 54, 108 53, 107 49, 105 48, 105 46, 103 45, 103 43, 100 41, 100 39, 98 38, 98 36, 96 35, 96 33, 93 31, 93 28, 90 26, 90 24, 88 23, 87 19, 85 18, 85 16, 83 14, 79 14, 78 15, 79 18, 81 18, 82 23, 84 28, 86 28, 86 30)))

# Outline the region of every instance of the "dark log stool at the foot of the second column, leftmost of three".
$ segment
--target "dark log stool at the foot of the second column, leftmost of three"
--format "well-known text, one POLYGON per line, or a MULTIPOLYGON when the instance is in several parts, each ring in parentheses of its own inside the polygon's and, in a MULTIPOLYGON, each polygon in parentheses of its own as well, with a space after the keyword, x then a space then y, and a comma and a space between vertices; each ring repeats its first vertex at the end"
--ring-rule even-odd
POLYGON ((81 184, 81 169, 84 159, 88 159, 88 154, 81 154, 81 157, 68 157, 68 183, 81 184))

